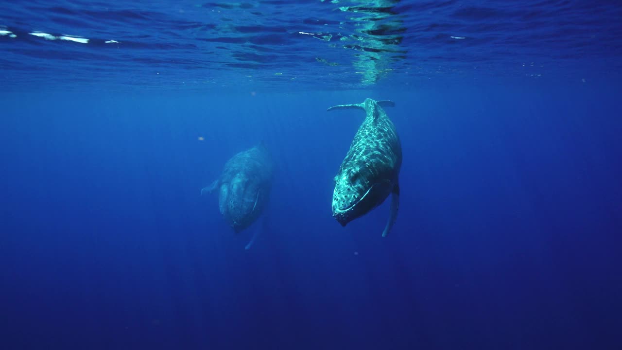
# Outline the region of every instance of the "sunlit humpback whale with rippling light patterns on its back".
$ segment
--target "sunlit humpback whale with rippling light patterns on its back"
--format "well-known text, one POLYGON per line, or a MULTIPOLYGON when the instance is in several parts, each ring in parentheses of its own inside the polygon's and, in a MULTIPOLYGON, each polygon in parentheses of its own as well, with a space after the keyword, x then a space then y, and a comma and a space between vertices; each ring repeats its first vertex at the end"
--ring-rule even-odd
POLYGON ((382 204, 391 194, 391 213, 384 237, 397 218, 402 146, 383 106, 395 106, 395 103, 366 98, 363 103, 333 106, 328 111, 355 108, 366 113, 335 176, 333 217, 345 226, 382 204))

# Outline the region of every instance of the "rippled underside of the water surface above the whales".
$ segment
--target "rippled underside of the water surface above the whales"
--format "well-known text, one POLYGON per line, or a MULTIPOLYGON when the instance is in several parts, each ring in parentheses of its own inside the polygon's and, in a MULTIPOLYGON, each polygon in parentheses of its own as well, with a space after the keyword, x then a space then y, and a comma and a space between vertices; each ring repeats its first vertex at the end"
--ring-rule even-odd
POLYGON ((583 1, 5 2, 5 87, 325 88, 619 70, 622 6, 583 1))

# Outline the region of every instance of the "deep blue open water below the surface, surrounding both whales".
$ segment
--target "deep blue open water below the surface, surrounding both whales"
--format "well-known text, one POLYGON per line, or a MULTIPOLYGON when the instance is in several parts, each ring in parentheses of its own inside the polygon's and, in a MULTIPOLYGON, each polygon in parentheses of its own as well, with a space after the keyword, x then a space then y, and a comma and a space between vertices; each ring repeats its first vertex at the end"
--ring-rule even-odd
POLYGON ((442 90, 4 100, 2 341, 615 349, 615 94, 442 90), (368 95, 396 100, 405 154, 384 239, 387 203, 345 229, 330 217, 362 113, 325 106, 368 95), (259 138, 279 170, 245 251, 199 194, 259 138))

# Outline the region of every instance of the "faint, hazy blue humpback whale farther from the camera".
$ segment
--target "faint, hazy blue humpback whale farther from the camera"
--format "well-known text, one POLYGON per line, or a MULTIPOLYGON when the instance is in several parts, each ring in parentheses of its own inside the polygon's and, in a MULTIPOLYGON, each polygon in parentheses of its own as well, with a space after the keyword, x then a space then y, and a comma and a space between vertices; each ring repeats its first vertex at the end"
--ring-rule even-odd
MULTIPOLYGON (((261 215, 267 205, 272 188, 274 164, 266 145, 246 149, 234 155, 220 177, 201 190, 201 194, 218 189, 220 214, 238 234, 261 215)), ((246 249, 253 245, 257 231, 246 249)))

